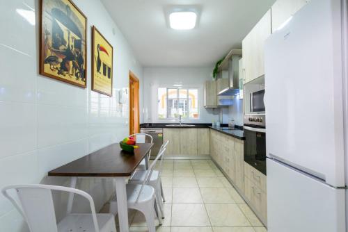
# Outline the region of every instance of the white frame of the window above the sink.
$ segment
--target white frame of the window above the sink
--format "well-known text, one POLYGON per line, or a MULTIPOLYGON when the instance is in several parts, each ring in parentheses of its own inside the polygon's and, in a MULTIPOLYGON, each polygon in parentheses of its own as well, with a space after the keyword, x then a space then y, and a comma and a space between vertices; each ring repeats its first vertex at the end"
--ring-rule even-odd
MULTIPOLYGON (((187 120, 199 120, 200 119, 200 108, 199 108, 199 88, 194 88, 194 87, 158 87, 157 88, 157 99, 159 99, 159 94, 158 94, 158 90, 160 88, 165 88, 166 89, 166 117, 165 118, 161 118, 159 117, 159 111, 158 111, 158 106, 159 106, 159 101, 157 100, 157 119, 159 120, 166 120, 166 119, 178 119, 179 117, 169 117, 169 104, 168 104, 168 100, 169 100, 169 94, 168 94, 168 90, 176 90, 176 98, 175 100, 177 101, 177 113, 179 112, 179 106, 180 106, 180 99, 187 99, 187 117, 183 117, 183 119, 187 119, 187 120), (187 90, 187 97, 186 98, 180 98, 180 90, 187 90), (190 107, 189 107, 189 90, 196 90, 197 91, 197 104, 196 104, 196 108, 198 111, 198 117, 190 117, 190 107)), ((173 98, 171 98, 173 99, 173 98)))

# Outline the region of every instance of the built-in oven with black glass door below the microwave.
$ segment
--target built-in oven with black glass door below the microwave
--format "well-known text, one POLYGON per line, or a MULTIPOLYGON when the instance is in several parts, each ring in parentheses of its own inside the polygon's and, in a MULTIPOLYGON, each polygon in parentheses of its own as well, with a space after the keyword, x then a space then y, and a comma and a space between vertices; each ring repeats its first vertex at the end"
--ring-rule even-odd
POLYGON ((266 175, 265 115, 244 116, 244 161, 266 175))

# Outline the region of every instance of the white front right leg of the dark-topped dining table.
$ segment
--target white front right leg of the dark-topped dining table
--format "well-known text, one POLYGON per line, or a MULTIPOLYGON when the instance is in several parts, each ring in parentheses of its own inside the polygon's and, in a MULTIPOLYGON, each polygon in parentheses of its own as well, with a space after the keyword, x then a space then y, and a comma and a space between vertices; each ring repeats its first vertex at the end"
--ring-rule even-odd
POLYGON ((116 177, 115 180, 120 232, 129 232, 126 179, 124 176, 120 176, 116 177))

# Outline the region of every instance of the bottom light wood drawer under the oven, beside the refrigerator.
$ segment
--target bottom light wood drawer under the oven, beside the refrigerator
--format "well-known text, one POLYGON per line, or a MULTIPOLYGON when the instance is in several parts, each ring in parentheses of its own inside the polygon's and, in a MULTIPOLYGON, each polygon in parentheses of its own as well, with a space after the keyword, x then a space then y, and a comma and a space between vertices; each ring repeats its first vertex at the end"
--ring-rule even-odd
POLYGON ((267 194, 258 188, 247 176, 244 178, 244 194, 258 216, 267 221, 267 194))

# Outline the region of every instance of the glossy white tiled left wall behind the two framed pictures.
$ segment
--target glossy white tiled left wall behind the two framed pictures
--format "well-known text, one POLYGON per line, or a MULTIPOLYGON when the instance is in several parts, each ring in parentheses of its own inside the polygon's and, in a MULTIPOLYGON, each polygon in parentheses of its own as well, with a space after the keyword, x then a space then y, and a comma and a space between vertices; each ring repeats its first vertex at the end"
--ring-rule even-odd
MULTIPOLYGON (((15 11, 33 8, 38 22, 38 1, 0 3, 0 188, 16 183, 67 185, 68 179, 48 178, 47 172, 128 134, 128 103, 121 107, 117 94, 106 97, 90 91, 90 26, 97 26, 113 45, 114 93, 128 86, 129 69, 142 83, 143 69, 99 0, 74 3, 88 17, 86 89, 38 75, 38 23, 31 26, 15 11), (91 99, 99 101, 95 108, 90 106, 91 99)), ((104 186, 106 194, 98 179, 83 179, 78 187, 93 194, 100 208, 111 194, 110 181, 108 184, 104 186)), ((66 196, 54 199, 60 218, 66 196)), ((13 206, 1 196, 0 231, 28 231, 13 206)))

